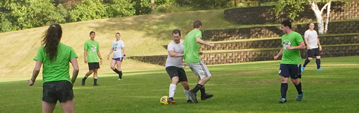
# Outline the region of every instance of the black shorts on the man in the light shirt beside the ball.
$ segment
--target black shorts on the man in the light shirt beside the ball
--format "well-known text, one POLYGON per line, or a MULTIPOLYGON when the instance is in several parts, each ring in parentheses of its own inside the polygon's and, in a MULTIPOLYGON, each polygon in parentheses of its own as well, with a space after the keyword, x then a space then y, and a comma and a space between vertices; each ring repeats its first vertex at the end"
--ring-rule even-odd
POLYGON ((167 74, 170 75, 170 78, 178 76, 178 82, 187 81, 187 75, 183 68, 178 68, 176 66, 166 67, 167 74))

